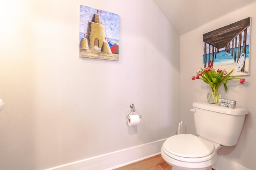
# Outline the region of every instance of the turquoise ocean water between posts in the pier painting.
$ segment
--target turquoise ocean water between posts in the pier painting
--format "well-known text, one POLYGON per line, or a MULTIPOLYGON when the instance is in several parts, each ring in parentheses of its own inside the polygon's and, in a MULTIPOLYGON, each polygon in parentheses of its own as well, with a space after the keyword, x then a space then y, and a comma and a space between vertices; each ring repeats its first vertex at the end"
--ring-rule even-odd
MULTIPOLYGON (((234 51, 233 49, 233 56, 234 56, 234 51)), ((241 54, 243 51, 243 47, 241 47, 241 54)), ((209 59, 209 54, 206 55, 206 63, 208 64, 208 59, 209 59)), ((227 64, 234 64, 234 57, 230 54, 226 53, 225 50, 223 49, 216 55, 216 59, 214 59, 213 66, 221 66, 221 65, 227 65, 227 64)), ((246 60, 248 61, 249 59, 249 45, 246 45, 246 60)), ((236 62, 238 58, 238 47, 236 47, 236 62)), ((211 53, 211 59, 212 59, 212 53, 211 53)), ((206 65, 207 65, 206 64, 206 65)), ((203 54, 203 66, 204 66, 204 54, 203 54)))

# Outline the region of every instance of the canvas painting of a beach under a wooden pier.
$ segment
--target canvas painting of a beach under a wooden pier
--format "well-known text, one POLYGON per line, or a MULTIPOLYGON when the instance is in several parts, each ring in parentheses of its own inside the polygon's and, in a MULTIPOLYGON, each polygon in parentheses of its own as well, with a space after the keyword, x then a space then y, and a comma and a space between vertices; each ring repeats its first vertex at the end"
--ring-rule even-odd
POLYGON ((212 62, 215 70, 227 72, 231 76, 248 76, 251 18, 237 21, 203 35, 203 66, 212 62))

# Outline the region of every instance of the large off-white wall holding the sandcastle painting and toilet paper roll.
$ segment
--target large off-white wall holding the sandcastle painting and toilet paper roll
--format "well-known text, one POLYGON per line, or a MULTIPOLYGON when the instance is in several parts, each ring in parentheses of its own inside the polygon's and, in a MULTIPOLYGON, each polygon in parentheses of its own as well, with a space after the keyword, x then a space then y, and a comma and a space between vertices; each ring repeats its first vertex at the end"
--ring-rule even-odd
POLYGON ((50 168, 176 133, 180 37, 151 0, 10 0, 0 21, 0 169, 50 168), (78 57, 80 4, 120 15, 119 61, 78 57), (142 119, 128 127, 132 103, 142 119))

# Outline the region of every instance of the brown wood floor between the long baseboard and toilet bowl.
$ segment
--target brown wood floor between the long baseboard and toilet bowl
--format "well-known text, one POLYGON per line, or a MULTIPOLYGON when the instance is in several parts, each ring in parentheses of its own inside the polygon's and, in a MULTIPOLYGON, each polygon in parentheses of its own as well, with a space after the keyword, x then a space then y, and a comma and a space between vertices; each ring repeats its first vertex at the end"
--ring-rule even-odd
POLYGON ((115 170, 171 170, 171 169, 172 167, 164 161, 161 155, 156 155, 151 158, 147 158, 139 162, 135 162, 133 164, 123 166, 121 168, 117 168, 115 170))

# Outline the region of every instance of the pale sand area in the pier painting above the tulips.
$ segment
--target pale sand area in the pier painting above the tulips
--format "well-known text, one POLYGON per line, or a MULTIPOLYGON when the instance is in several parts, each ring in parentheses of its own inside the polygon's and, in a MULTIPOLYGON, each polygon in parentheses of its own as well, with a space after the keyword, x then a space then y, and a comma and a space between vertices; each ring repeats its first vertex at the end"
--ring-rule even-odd
POLYGON ((216 71, 219 68, 222 69, 222 70, 226 69, 227 72, 230 72, 230 71, 234 70, 230 76, 248 76, 248 75, 250 75, 249 74, 249 60, 248 59, 245 60, 244 72, 236 71, 236 63, 226 64, 226 65, 221 65, 221 66, 214 66, 214 64, 213 64, 213 68, 216 71))

